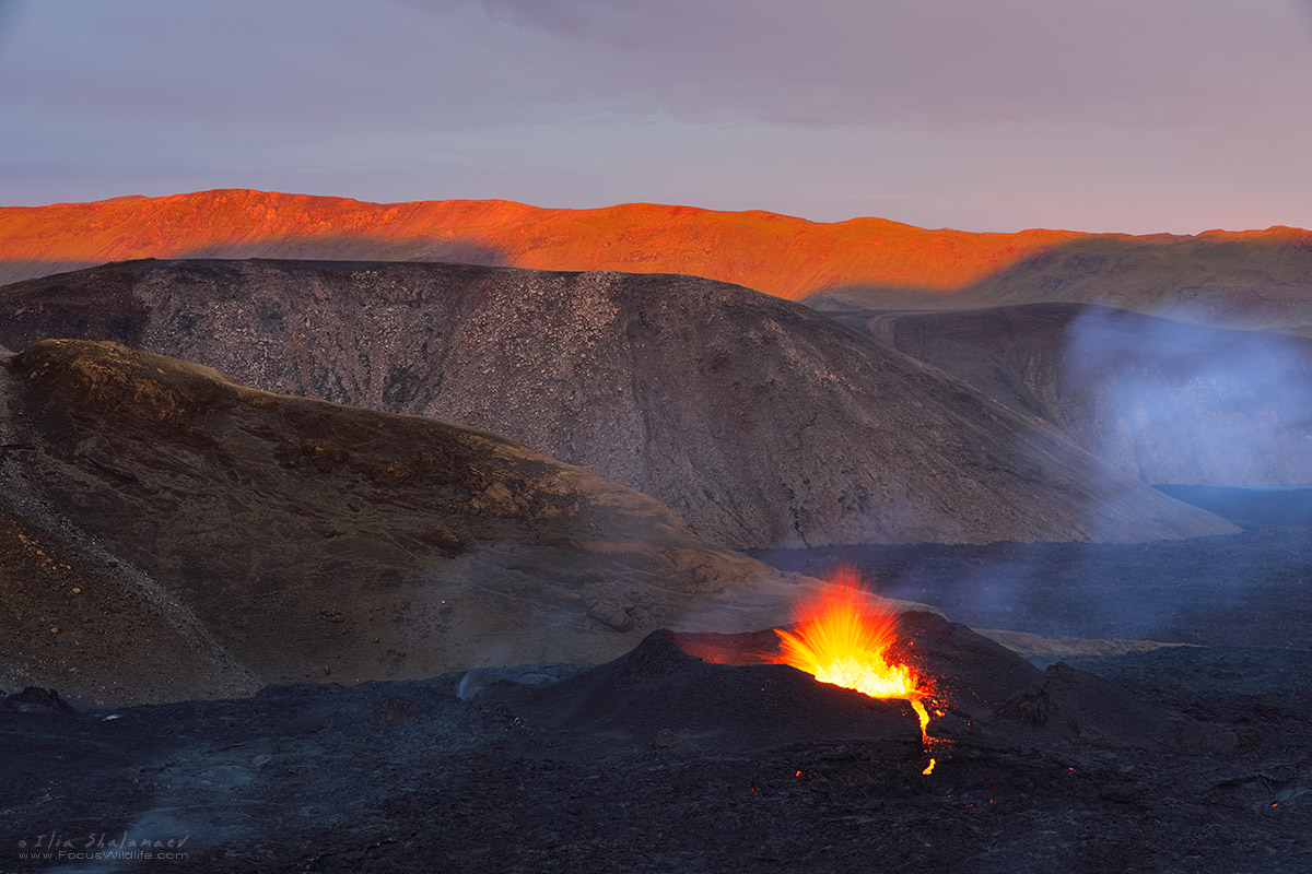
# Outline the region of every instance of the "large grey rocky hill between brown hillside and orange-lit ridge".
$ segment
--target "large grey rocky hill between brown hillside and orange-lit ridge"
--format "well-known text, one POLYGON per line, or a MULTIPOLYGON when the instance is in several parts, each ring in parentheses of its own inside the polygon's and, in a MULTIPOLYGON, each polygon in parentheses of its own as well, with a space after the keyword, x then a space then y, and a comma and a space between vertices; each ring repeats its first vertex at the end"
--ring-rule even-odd
POLYGON ((117 339, 268 390, 466 422, 735 546, 1235 531, 812 311, 672 275, 136 262, 0 291, 0 342, 117 339))

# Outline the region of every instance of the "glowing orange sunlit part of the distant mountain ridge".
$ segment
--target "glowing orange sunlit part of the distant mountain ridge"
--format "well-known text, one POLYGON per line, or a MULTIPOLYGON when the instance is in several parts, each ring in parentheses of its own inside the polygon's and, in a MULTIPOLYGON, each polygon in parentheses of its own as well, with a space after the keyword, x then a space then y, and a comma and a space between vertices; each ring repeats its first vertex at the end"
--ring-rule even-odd
POLYGON ((131 258, 462 261, 681 273, 799 299, 846 286, 963 288, 1081 235, 820 224, 771 212, 631 203, 362 203, 247 190, 0 208, 0 284, 131 258))

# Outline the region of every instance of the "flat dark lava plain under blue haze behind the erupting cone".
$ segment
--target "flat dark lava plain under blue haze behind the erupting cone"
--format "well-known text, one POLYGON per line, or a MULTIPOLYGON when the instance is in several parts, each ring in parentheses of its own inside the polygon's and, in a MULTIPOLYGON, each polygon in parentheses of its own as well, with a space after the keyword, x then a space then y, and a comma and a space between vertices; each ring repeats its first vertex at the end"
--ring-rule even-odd
MULTIPOLYGON (((1312 494, 1312 491, 1303 493, 1312 494)), ((1148 544, 1002 542, 775 550, 774 563, 824 575, 851 561, 879 595, 922 601, 977 629, 1050 637, 1298 646, 1265 620, 1308 613, 1312 556, 1281 532, 1148 544), (1302 598, 1302 600, 1299 600, 1302 598)), ((1286 630, 1294 628, 1286 622, 1286 630)), ((1054 651, 1061 651, 1060 643, 1054 651)))

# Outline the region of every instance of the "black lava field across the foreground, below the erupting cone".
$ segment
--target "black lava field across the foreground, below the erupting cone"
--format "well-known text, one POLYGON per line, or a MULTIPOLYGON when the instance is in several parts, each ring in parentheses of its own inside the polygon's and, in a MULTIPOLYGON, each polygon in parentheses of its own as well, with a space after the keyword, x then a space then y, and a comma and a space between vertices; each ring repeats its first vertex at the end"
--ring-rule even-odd
MULTIPOLYGON (((1013 719, 938 748, 924 776, 899 713, 782 666, 702 664, 720 680, 687 671, 682 708, 636 723, 626 700, 596 719, 596 696, 589 719, 562 717, 550 687, 464 701, 462 681, 468 696, 491 677, 462 675, 112 713, 0 708, 0 870, 1309 870, 1312 654, 1182 647, 1076 664, 1191 729, 1145 748, 1013 719), (760 687, 782 709, 774 734, 747 731, 761 715, 737 709, 750 671, 774 672, 760 687), (112 857, 125 837, 186 856, 68 861, 112 857)), ((517 679, 571 675, 589 676, 517 679)), ((627 676, 631 692, 652 688, 627 676)))

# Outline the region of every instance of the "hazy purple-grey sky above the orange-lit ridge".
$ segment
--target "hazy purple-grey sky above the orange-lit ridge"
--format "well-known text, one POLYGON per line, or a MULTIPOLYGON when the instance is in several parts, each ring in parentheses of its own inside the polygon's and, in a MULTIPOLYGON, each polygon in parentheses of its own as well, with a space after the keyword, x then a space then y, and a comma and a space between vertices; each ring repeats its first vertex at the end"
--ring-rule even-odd
POLYGON ((1312 227, 1312 0, 0 0, 0 204, 1312 227))

